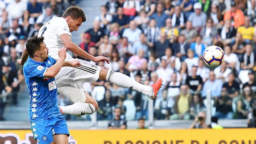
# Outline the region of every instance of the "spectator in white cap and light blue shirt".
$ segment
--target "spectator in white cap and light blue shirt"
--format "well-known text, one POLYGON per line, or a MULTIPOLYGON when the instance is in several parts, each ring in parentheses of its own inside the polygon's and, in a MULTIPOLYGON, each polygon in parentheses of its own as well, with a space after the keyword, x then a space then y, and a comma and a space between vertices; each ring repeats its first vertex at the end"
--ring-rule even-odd
POLYGON ((202 5, 199 2, 194 4, 194 12, 190 14, 188 20, 192 22, 194 28, 202 28, 206 25, 206 14, 202 12, 202 5))

